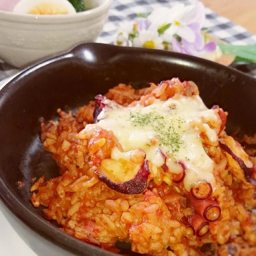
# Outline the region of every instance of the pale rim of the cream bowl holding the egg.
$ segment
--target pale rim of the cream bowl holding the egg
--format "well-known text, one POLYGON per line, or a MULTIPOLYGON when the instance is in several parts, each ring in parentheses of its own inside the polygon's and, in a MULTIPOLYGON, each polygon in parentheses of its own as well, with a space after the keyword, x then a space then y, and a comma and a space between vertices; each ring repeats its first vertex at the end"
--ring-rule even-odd
POLYGON ((0 10, 0 21, 23 22, 35 24, 49 23, 70 23, 93 19, 102 16, 106 12, 114 0, 105 0, 101 5, 86 11, 74 14, 58 14, 58 15, 35 15, 35 14, 15 14, 9 11, 0 10))

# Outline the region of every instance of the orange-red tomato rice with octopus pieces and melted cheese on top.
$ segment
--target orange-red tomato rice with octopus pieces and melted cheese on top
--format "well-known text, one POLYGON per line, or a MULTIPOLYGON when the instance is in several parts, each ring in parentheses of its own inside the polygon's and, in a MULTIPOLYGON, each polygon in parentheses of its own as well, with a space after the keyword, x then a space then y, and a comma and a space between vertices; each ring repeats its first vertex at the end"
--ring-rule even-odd
POLYGON ((31 201, 64 232, 117 253, 256 255, 256 161, 195 83, 119 84, 57 112, 41 140, 60 176, 39 178, 31 201))

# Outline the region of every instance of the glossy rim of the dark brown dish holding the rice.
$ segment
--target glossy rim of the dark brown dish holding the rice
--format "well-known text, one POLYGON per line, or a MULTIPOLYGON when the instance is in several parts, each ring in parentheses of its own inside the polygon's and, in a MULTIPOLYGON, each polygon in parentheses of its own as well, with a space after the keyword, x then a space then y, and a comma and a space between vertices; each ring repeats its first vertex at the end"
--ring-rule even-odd
MULTIPOLYGON (((116 55, 120 54, 130 54, 131 51, 134 53, 142 52, 145 55, 159 55, 165 56, 166 58, 175 59, 177 63, 180 65, 188 65, 191 63, 196 63, 199 65, 209 66, 211 65, 213 68, 221 68, 222 70, 229 71, 231 73, 235 73, 239 76, 243 76, 246 78, 247 81, 251 81, 256 85, 256 79, 242 73, 241 71, 235 70, 230 67, 223 66, 219 63, 215 63, 203 58, 198 58, 182 53, 174 53, 169 51, 163 50, 154 50, 154 49, 146 49, 146 48, 135 48, 135 47, 121 47, 121 46, 114 46, 114 45, 107 45, 102 43, 84 43, 81 45, 76 46, 71 51, 62 54, 60 56, 48 59, 41 63, 37 63, 30 67, 25 68, 24 70, 20 71, 16 76, 8 79, 2 89, 0 90, 0 101, 5 97, 5 93, 9 90, 12 90, 13 85, 15 82, 18 82, 20 79, 29 75, 30 73, 40 69, 43 66, 47 66, 53 62, 58 62, 64 58, 77 58, 79 55, 83 55, 84 51, 87 50, 94 50, 97 51, 97 47, 105 48, 105 52, 109 52, 108 49, 115 48, 116 55)), ((82 60, 81 60, 82 61, 82 60)), ((119 255, 116 253, 112 253, 109 251, 102 250, 101 248, 91 245, 89 243, 85 243, 75 237, 71 237, 70 235, 62 232, 61 230, 57 229, 53 226, 50 222, 46 221, 43 217, 37 215, 34 211, 28 209, 24 203, 12 193, 12 191, 8 188, 7 184, 3 181, 0 177, 0 200, 9 208, 11 213, 15 215, 18 219, 20 219, 23 223, 26 224, 28 228, 33 229, 38 234, 42 235, 42 237, 46 238, 48 241, 59 245, 60 247, 64 247, 67 250, 75 250, 81 253, 81 249, 88 250, 87 253, 94 252, 93 255, 101 255, 101 256, 114 256, 119 255)), ((88 254, 90 255, 90 254, 88 254)))

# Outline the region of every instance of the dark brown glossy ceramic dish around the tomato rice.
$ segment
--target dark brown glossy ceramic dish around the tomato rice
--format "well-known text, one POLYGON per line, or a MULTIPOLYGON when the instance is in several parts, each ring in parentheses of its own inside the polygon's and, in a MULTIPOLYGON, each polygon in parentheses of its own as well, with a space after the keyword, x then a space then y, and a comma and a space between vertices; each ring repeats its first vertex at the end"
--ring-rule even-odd
MULTIPOLYGON (((167 51, 84 44, 24 70, 0 91, 0 197, 26 223, 21 224, 21 235, 40 234, 39 240, 46 238, 76 255, 110 255, 62 233, 43 218, 40 207, 31 205, 31 178, 58 175, 58 167, 39 141, 38 119, 56 118, 58 107, 75 110, 118 83, 145 87, 172 77, 193 80, 207 106, 218 104, 228 111, 229 133, 256 132, 255 79, 205 59, 167 51), (18 181, 25 183, 23 189, 18 181)), ((47 255, 44 247, 40 251, 39 255, 47 255)))

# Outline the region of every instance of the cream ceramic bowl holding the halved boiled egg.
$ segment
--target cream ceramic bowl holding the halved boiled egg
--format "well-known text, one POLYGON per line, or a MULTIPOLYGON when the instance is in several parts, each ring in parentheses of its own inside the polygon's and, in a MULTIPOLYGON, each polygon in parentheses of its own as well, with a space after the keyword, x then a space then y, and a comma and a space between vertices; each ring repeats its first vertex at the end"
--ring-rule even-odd
POLYGON ((90 10, 76 14, 18 15, 0 11, 0 59, 20 68, 74 45, 94 42, 113 0, 85 2, 90 10))

